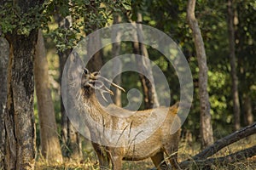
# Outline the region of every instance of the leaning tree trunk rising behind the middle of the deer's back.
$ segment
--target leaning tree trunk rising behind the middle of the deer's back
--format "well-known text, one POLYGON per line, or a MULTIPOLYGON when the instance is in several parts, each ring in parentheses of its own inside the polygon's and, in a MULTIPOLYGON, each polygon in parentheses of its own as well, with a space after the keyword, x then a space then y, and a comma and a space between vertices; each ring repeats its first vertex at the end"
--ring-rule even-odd
MULTIPOLYGON (((142 23, 142 22, 143 22, 142 14, 137 13, 137 23, 142 23)), ((148 60, 147 60, 149 59, 148 49, 143 43, 140 43, 143 40, 142 26, 138 26, 137 31, 138 31, 137 35, 134 35, 136 36, 135 39, 137 39, 137 42, 133 42, 133 50, 134 50, 134 54, 142 55, 139 59, 137 58, 138 69, 140 69, 141 72, 143 72, 143 70, 148 71, 148 78, 145 77, 145 75, 143 74, 139 74, 139 77, 143 86, 144 109, 150 109, 153 107, 158 107, 160 104, 155 91, 153 72, 150 67, 150 63, 148 63, 148 60)))

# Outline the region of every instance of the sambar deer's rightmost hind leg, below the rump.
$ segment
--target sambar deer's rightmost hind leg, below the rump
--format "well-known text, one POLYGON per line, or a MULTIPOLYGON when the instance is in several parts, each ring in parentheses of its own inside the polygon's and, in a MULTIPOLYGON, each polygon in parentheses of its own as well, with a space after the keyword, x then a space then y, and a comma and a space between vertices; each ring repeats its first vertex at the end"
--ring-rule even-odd
POLYGON ((177 145, 165 146, 166 155, 174 169, 181 169, 177 162, 177 145))

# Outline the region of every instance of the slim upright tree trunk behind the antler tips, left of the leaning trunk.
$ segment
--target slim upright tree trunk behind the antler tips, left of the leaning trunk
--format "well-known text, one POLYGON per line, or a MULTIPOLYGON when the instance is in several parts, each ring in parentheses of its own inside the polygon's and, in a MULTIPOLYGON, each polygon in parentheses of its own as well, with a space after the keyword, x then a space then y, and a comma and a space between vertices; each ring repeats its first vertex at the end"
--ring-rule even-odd
MULTIPOLYGON (((113 24, 119 24, 121 22, 121 16, 119 14, 114 14, 113 15, 113 24)), ((113 38, 114 38, 114 42, 112 44, 112 56, 113 58, 118 56, 120 53, 120 48, 121 48, 121 42, 120 42, 120 31, 116 30, 113 31, 113 38)), ((115 62, 113 63, 113 72, 116 71, 121 71, 122 70, 122 62, 119 59, 116 59, 115 62)), ((121 74, 119 74, 117 77, 115 77, 115 79, 113 80, 114 83, 116 83, 117 85, 121 84, 121 74)), ((122 98, 121 98, 121 90, 119 88, 115 88, 114 89, 114 96, 113 96, 113 100, 114 100, 114 104, 118 105, 118 106, 122 106, 122 98)))

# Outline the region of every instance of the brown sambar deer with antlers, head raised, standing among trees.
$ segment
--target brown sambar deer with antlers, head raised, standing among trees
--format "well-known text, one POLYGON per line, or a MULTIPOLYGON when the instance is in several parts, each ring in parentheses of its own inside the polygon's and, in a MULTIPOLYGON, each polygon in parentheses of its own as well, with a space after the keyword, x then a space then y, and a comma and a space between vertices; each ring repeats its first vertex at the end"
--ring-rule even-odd
MULTIPOLYGON (((108 169, 111 161, 112 169, 119 170, 122 168, 122 160, 138 161, 150 157, 157 169, 168 169, 169 167, 166 164, 164 153, 166 153, 166 156, 171 162, 172 168, 179 168, 177 163, 177 148, 180 129, 176 133, 171 134, 170 132, 173 123, 177 123, 177 126, 180 126, 180 119, 177 118, 178 105, 172 105, 170 108, 163 107, 155 110, 137 111, 136 113, 131 113, 131 111, 127 111, 117 105, 104 107, 99 103, 96 91, 102 94, 100 97, 103 99, 105 99, 103 93, 113 94, 113 92, 103 82, 105 84, 106 82, 110 83, 113 87, 125 91, 123 88, 110 82, 107 78, 100 76, 99 72, 90 73, 90 71, 84 69, 81 78, 80 99, 82 99, 84 111, 86 114, 89 114, 91 120, 94 122, 88 126, 92 138, 91 141, 99 159, 100 168, 108 169), (115 139, 115 142, 121 144, 106 144, 106 141, 112 142, 110 141, 112 139, 111 135, 115 130, 119 129, 121 131, 123 130, 123 132, 129 131, 131 133, 133 128, 139 127, 149 116, 153 115, 154 117, 163 111, 166 111, 166 116, 163 117, 164 120, 160 127, 157 127, 147 139, 135 142, 136 137, 132 137, 130 141, 122 141, 120 137, 118 140, 115 139), (129 114, 130 116, 127 116, 129 114), (96 124, 102 124, 105 130, 101 130, 101 127, 93 127, 96 126, 95 122, 96 124), (112 132, 106 133, 107 130, 112 132)), ((146 128, 150 129, 151 127, 146 128)), ((121 133, 119 135, 126 135, 127 137, 129 133, 121 133)), ((137 134, 136 136, 139 135, 137 134)), ((124 138, 129 139, 129 137, 126 137, 124 138)))

